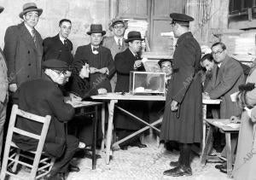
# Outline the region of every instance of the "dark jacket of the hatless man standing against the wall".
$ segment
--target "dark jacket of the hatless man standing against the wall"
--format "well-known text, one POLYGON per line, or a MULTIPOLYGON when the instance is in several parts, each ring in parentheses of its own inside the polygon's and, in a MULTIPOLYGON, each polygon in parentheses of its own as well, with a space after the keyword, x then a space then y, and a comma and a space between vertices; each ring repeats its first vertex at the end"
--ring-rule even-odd
POLYGON ((44 46, 44 61, 49 59, 59 59, 66 61, 67 64, 73 63, 73 44, 67 39, 67 46, 62 44, 59 34, 52 38, 45 38, 44 46))

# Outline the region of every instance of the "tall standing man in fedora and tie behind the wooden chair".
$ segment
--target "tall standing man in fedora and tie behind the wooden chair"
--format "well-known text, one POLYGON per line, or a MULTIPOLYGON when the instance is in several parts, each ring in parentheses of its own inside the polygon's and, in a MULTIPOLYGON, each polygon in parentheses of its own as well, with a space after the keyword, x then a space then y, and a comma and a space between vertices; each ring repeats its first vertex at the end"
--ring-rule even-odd
POLYGON ((3 53, 11 92, 15 92, 23 82, 41 77, 43 39, 35 26, 42 12, 36 3, 25 3, 20 13, 24 21, 17 26, 9 26, 5 32, 3 53))

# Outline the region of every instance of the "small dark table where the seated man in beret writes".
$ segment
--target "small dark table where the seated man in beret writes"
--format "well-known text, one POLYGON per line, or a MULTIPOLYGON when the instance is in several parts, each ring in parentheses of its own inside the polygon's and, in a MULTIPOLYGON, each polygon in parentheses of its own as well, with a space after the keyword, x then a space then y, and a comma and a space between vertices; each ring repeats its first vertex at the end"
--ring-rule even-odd
POLYGON ((102 106, 102 102, 79 102, 73 104, 76 110, 75 115, 90 115, 93 120, 93 130, 92 130, 92 169, 96 169, 96 136, 97 136, 97 122, 98 122, 98 107, 102 106), (94 111, 87 111, 89 107, 94 107, 94 111))

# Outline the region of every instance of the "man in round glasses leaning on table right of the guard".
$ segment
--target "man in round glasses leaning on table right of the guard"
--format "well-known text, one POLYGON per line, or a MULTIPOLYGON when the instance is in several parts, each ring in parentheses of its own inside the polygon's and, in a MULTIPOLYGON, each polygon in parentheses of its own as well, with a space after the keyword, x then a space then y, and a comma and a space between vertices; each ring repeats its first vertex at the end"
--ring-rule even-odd
MULTIPOLYGON (((238 61, 227 54, 225 44, 212 44, 212 56, 216 64, 212 67, 212 79, 207 85, 205 98, 221 99, 220 119, 230 119, 240 116, 241 107, 232 102, 230 95, 238 91, 238 86, 244 84, 244 73, 238 61)), ((232 153, 236 148, 237 136, 231 136, 232 153)), ((225 148, 222 153, 225 156, 225 148)), ((216 165, 220 171, 225 171, 225 165, 216 165)))

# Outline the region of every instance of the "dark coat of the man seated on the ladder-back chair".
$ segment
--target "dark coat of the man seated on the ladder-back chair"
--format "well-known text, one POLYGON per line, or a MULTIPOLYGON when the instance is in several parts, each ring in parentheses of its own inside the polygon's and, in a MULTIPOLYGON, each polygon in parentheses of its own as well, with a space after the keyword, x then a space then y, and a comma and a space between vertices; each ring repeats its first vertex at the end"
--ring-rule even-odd
MULTIPOLYGON (((28 81, 15 92, 14 102, 20 109, 40 116, 50 115, 49 130, 44 151, 53 157, 61 157, 66 143, 65 123, 73 118, 74 108, 64 102, 64 96, 48 76, 28 81)), ((17 119, 18 127, 39 133, 42 125, 28 119, 17 119)), ((37 141, 28 136, 14 136, 14 142, 21 149, 36 150, 37 141)))

